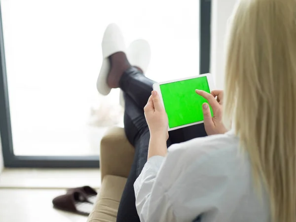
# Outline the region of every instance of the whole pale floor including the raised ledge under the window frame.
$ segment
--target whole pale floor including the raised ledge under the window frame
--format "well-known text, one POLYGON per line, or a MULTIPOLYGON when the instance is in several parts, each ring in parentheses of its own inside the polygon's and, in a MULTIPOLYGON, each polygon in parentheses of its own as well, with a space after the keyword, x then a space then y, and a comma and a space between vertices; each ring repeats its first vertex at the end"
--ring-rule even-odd
POLYGON ((86 222, 56 210, 52 199, 67 188, 90 185, 99 191, 99 169, 4 169, 0 175, 0 222, 86 222))

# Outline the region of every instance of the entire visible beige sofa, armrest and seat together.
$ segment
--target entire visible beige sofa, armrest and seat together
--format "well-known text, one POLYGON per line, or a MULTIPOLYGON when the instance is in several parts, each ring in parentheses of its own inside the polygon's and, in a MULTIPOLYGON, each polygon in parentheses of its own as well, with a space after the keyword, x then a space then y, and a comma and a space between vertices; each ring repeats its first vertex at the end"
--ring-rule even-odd
POLYGON ((87 222, 116 222, 119 201, 134 158, 124 129, 111 128, 101 141, 100 194, 87 222))

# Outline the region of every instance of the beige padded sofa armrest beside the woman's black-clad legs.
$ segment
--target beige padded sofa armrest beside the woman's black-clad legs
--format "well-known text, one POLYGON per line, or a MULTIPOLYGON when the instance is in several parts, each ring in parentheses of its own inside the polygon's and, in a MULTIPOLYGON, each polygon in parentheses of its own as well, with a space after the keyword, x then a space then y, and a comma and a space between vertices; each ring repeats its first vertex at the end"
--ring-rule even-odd
POLYGON ((101 177, 114 175, 127 178, 135 148, 128 142, 123 128, 112 127, 101 140, 101 177))

